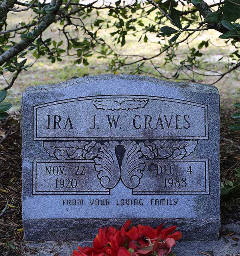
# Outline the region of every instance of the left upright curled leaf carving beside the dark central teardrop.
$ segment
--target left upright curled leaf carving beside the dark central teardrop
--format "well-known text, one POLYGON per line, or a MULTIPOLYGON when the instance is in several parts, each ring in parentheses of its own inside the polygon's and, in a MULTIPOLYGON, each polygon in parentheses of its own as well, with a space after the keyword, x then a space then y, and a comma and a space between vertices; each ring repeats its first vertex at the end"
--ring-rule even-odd
POLYGON ((95 169, 98 171, 98 179, 103 187, 111 189, 120 180, 120 167, 115 153, 118 141, 105 142, 98 157, 94 159, 95 169))

